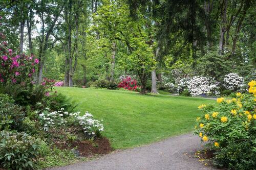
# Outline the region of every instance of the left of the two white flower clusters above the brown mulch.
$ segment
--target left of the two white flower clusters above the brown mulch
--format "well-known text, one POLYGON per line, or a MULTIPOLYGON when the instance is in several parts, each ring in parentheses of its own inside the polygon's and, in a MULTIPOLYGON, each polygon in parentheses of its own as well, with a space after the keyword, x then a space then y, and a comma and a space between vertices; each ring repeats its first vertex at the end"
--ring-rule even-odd
MULTIPOLYGON (((45 110, 39 114, 39 120, 41 124, 44 125, 45 131, 48 131, 49 128, 55 125, 60 126, 67 123, 64 116, 65 114, 68 115, 68 112, 63 112, 63 109, 54 112, 50 112, 49 110, 49 108, 45 108, 45 110)), ((38 111, 36 111, 36 113, 38 113, 38 111)))

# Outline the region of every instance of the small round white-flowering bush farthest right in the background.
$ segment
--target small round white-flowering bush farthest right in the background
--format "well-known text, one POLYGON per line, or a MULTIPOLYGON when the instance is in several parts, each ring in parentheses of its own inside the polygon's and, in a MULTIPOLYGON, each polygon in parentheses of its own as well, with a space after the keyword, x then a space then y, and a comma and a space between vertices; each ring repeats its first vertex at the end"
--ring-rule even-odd
POLYGON ((244 78, 236 73, 229 73, 224 76, 224 87, 228 90, 239 90, 244 85, 244 78))

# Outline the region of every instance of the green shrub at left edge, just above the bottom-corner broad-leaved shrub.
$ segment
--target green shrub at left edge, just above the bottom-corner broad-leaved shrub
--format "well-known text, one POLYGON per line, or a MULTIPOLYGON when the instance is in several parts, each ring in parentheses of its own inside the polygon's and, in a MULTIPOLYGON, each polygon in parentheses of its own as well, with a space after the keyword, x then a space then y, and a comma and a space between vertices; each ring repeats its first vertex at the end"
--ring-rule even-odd
POLYGON ((25 114, 23 108, 14 104, 6 94, 0 94, 0 130, 18 130, 25 114))

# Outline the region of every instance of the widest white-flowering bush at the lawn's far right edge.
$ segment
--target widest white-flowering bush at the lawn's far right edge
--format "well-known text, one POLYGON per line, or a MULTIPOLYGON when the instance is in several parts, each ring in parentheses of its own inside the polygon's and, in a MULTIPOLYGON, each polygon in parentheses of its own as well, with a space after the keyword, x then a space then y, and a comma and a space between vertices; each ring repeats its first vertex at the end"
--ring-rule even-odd
POLYGON ((201 94, 219 95, 219 83, 215 79, 195 76, 190 79, 187 85, 188 91, 192 96, 201 94))

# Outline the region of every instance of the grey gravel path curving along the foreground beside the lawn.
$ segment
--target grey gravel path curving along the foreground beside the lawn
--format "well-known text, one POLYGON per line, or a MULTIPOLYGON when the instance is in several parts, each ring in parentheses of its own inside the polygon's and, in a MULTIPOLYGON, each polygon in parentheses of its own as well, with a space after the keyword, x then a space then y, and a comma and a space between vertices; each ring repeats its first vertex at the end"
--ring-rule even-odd
POLYGON ((85 169, 215 169, 194 157, 201 150, 199 137, 192 134, 168 138, 143 147, 121 150, 95 160, 49 170, 85 169))

